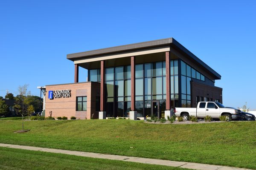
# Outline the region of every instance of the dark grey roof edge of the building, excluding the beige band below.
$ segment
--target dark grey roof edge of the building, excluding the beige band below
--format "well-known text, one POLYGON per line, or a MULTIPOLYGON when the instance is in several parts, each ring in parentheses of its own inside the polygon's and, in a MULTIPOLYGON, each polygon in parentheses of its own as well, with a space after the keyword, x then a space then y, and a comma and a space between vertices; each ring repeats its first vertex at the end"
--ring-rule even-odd
POLYGON ((129 51, 134 51, 134 50, 139 50, 139 49, 154 48, 154 47, 160 47, 160 46, 166 46, 166 45, 170 45, 171 47, 173 47, 177 51, 179 51, 181 54, 187 56, 189 59, 193 60, 197 64, 204 67, 208 72, 210 72, 215 77, 215 79, 221 79, 220 74, 218 74, 216 71, 214 71, 212 68, 210 68, 207 64, 205 64, 201 59, 199 59, 194 54, 192 54, 192 52, 190 52, 188 49, 186 49, 183 45, 181 45, 179 42, 177 42, 174 38, 166 38, 166 39, 160 39, 160 40, 139 42, 139 43, 134 43, 134 44, 120 45, 120 46, 115 46, 115 47, 110 47, 110 48, 101 48, 101 49, 97 49, 97 50, 67 54, 67 59, 70 59, 71 61, 75 61, 75 60, 81 59, 81 58, 97 57, 100 55, 115 54, 115 53, 120 53, 120 52, 129 52, 129 51))

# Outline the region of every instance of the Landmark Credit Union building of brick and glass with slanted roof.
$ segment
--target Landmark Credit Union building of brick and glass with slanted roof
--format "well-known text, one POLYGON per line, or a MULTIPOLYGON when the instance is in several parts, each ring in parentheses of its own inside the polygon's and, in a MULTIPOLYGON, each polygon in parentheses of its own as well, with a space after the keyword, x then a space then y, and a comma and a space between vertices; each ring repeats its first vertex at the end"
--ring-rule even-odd
POLYGON ((221 75, 173 38, 67 54, 74 83, 46 85, 45 116, 164 117, 175 107, 222 102, 221 75), (79 69, 88 82, 79 82, 79 69))

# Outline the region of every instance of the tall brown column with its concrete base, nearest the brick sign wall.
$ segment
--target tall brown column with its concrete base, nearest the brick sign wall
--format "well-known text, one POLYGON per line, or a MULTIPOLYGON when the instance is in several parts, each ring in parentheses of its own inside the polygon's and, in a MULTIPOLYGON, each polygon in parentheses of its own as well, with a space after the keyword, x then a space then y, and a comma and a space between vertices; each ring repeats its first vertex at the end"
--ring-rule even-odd
POLYGON ((105 61, 100 62, 100 111, 99 119, 106 119, 105 110, 105 61))

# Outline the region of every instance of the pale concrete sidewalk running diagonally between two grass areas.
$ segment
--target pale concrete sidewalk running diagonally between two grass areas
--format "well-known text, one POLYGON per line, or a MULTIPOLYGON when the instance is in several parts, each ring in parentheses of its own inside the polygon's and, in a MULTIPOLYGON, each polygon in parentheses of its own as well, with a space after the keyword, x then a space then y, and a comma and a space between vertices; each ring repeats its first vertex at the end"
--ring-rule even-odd
POLYGON ((133 156, 107 155, 102 153, 50 149, 50 148, 44 148, 44 147, 23 146, 23 145, 17 145, 17 144, 0 143, 0 147, 10 147, 10 148, 24 149, 24 150, 36 150, 36 151, 43 151, 43 152, 50 152, 50 153, 63 153, 63 154, 75 155, 75 156, 138 162, 143 164, 157 164, 157 165, 165 165, 170 167, 189 168, 194 170, 248 170, 248 169, 237 168, 237 167, 225 167, 225 166, 210 165, 210 164, 198 164, 198 163, 190 163, 190 162, 168 161, 168 160, 161 160, 161 159, 149 159, 149 158, 140 158, 140 157, 133 157, 133 156))

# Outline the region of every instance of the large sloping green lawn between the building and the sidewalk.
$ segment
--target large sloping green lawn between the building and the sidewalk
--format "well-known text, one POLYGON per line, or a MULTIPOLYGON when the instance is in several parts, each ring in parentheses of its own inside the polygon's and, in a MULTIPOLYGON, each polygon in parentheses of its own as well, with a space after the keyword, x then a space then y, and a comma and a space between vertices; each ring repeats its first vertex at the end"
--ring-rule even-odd
POLYGON ((256 122, 172 125, 124 119, 0 121, 0 143, 256 169, 256 122))

